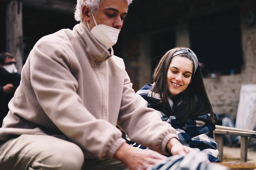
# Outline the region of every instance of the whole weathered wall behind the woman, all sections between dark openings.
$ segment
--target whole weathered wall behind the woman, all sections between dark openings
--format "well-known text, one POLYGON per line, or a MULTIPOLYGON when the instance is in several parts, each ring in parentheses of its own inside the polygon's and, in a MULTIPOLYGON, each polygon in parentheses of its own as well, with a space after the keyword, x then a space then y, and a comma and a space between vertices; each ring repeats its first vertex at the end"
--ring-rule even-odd
MULTIPOLYGON (((246 17, 250 11, 256 18, 256 3, 240 5, 241 40, 244 65, 240 74, 220 75, 220 78, 204 78, 214 112, 228 113, 236 118, 240 88, 242 84, 256 84, 256 23, 249 26, 246 17)), ((173 25, 175 26, 175 25, 173 25)), ((178 24, 176 28, 176 46, 189 46, 187 24, 178 24)), ((127 37, 124 45, 126 70, 133 83, 135 92, 151 80, 150 34, 127 37)))

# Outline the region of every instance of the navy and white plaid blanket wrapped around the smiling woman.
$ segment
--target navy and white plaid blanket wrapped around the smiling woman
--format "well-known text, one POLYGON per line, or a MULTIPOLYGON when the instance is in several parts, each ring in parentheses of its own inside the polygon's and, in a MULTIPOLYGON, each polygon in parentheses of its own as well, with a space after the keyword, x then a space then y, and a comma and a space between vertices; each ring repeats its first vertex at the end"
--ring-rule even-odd
MULTIPOLYGON (((161 119, 172 125, 178 133, 179 140, 182 145, 189 146, 196 151, 204 152, 208 155, 210 162, 219 162, 219 151, 217 150, 217 143, 213 139, 213 130, 215 130, 215 124, 212 124, 210 120, 210 114, 204 114, 200 116, 191 116, 183 124, 183 126, 176 120, 174 116, 166 116, 161 110, 161 103, 152 103, 152 92, 150 91, 152 84, 146 84, 143 86, 137 94, 142 96, 147 102, 148 107, 153 108, 159 112, 161 119)), ((156 101, 160 101, 158 94, 153 94, 156 101)), ((169 104, 172 108, 173 102, 169 98, 169 104)), ((215 118, 216 115, 215 115, 215 118)), ((139 147, 141 149, 147 149, 145 146, 141 146, 133 141, 126 135, 126 141, 128 144, 139 147)))

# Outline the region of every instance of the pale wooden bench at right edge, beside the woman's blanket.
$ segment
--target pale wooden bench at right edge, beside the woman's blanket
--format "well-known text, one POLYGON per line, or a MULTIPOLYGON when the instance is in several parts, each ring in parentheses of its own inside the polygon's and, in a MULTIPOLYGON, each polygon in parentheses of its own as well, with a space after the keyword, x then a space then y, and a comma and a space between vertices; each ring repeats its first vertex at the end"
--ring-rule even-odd
POLYGON ((220 154, 220 161, 223 161, 223 137, 224 135, 241 136, 240 142, 240 162, 247 162, 248 137, 256 138, 256 131, 231 128, 227 126, 216 125, 213 131, 214 140, 220 154))

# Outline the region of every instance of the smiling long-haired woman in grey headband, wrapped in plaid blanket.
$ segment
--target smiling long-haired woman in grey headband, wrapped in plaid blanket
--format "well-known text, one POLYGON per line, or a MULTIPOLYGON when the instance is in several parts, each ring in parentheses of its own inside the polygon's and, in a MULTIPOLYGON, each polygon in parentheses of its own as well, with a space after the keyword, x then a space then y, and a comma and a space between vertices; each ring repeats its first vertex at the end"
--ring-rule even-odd
MULTIPOLYGON (((213 139, 216 115, 204 88, 196 54, 189 48, 169 50, 154 70, 153 81, 137 94, 176 129, 183 145, 206 153, 211 162, 218 162, 219 152, 213 139)), ((146 148, 128 137, 127 142, 146 148)))

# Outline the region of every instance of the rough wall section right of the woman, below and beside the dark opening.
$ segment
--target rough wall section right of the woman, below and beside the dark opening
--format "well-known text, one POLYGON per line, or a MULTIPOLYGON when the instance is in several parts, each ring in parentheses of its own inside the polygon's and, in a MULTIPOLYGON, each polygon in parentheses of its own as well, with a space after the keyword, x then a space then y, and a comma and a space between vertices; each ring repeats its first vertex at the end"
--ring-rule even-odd
MULTIPOLYGON (((241 74, 221 75, 220 78, 204 78, 214 112, 229 113, 236 117, 242 84, 256 84, 256 26, 249 26, 246 17, 250 11, 255 13, 256 5, 240 5, 242 49, 244 66, 241 74)), ((256 16, 255 16, 256 17, 256 16)))

